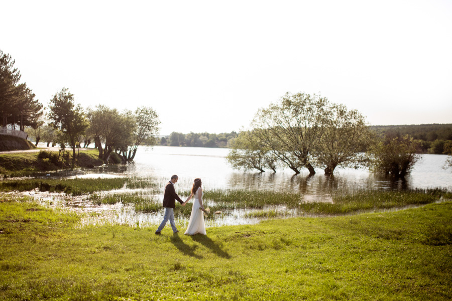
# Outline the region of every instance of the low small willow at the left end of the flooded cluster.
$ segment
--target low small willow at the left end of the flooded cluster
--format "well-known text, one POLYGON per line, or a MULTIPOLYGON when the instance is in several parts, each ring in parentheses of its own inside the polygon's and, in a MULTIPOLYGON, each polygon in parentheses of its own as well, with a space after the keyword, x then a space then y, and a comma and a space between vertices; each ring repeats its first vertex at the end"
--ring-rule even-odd
POLYGON ((271 169, 276 173, 278 159, 271 149, 262 147, 259 138, 253 131, 241 131, 231 142, 231 150, 226 157, 234 169, 252 170, 257 169, 265 172, 271 169))

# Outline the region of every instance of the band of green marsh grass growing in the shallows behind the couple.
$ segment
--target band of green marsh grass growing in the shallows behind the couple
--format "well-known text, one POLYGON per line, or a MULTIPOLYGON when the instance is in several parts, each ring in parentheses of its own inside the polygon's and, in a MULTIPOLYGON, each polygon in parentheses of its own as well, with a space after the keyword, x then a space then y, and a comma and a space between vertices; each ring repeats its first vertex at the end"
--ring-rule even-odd
MULTIPOLYGON (((23 179, 4 180, 0 182, 0 191, 40 191, 64 192, 72 196, 90 194, 89 200, 97 205, 116 204, 121 202, 134 205, 136 212, 158 212, 161 207, 161 193, 163 186, 156 184, 154 178, 110 178, 110 179, 23 179), (99 194, 101 191, 132 189, 135 192, 99 194)), ((189 191, 178 191, 182 199, 189 195, 189 191)), ((298 214, 312 215, 341 215, 357 212, 371 212, 404 208, 411 205, 433 203, 439 199, 452 199, 452 193, 444 189, 424 189, 408 191, 377 191, 357 190, 338 191, 332 195, 332 201, 305 201, 298 193, 277 191, 247 191, 231 189, 215 189, 204 192, 204 205, 212 212, 223 211, 230 214, 237 209, 250 210, 245 218, 271 218, 283 216, 279 212, 272 212, 268 207, 284 206, 293 209, 298 214)), ((176 217, 189 217, 192 203, 175 211, 176 217)), ((297 215, 297 214, 295 214, 297 215)), ((206 219, 214 219, 216 215, 205 215, 206 219)))

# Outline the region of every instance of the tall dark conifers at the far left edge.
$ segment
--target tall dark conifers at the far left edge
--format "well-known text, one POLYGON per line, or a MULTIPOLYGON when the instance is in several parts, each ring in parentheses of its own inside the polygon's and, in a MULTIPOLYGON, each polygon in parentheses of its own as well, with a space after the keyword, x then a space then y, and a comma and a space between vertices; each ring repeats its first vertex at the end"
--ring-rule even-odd
POLYGON ((43 105, 35 99, 26 83, 20 83, 21 73, 14 67, 15 60, 0 50, 0 113, 2 127, 25 130, 37 128, 43 114, 43 105))

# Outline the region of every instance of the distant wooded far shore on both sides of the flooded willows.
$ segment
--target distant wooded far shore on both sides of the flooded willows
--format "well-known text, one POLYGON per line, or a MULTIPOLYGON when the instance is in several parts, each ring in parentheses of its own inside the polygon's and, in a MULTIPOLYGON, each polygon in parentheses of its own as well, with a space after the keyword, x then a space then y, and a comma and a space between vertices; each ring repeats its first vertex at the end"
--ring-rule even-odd
MULTIPOLYGON (((414 139, 422 140, 421 153, 443 154, 444 144, 452 141, 452 123, 448 124, 413 124, 413 125, 372 125, 370 129, 379 136, 387 133, 410 135, 414 139)), ((194 147, 230 147, 237 132, 230 133, 180 133, 172 132, 163 136, 157 144, 170 146, 194 147)))

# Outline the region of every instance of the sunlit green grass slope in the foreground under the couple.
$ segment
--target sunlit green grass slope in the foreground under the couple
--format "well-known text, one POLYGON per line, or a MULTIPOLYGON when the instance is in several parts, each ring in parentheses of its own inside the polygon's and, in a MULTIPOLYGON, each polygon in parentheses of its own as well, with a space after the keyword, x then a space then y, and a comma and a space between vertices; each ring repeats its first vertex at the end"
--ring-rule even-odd
POLYGON ((452 298, 451 202, 194 237, 78 218, 2 194, 1 299, 452 298))

